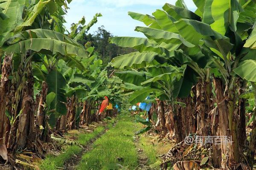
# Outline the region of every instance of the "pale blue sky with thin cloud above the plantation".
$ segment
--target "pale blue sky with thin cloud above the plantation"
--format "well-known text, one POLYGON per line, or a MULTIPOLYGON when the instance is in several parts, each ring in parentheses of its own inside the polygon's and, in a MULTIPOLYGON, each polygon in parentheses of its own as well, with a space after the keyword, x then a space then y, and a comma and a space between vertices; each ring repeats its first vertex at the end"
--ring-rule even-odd
MULTIPOLYGON (((192 0, 184 0, 191 11, 196 7, 192 0)), ((175 4, 176 0, 73 0, 68 6, 70 9, 65 15, 69 30, 72 23, 77 23, 83 16, 86 24, 96 13, 101 13, 98 22, 90 28, 94 33, 98 27, 105 26, 114 36, 144 37, 142 33, 134 31, 136 26, 145 26, 142 22, 133 20, 128 11, 140 14, 152 14, 156 9, 162 9, 165 3, 175 4)))

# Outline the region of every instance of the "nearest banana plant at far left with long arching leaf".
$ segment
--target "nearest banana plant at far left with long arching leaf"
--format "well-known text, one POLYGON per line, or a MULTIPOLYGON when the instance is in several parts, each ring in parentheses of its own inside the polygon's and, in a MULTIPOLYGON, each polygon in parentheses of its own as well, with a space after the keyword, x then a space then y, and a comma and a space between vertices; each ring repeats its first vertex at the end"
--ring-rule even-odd
MULTIPOLYGON (((66 102, 66 92, 64 87, 67 84, 67 79, 58 68, 59 62, 62 62, 62 64, 66 62, 70 69, 74 67, 84 69, 81 59, 88 57, 83 45, 63 34, 63 14, 67 9, 66 2, 64 0, 58 0, 56 3, 52 0, 39 0, 26 3, 26 1, 2 0, 0 4, 1 21, 5 24, 2 25, 1 22, 0 28, 1 57, 4 52, 6 54, 5 58, 14 63, 13 70, 9 71, 13 76, 12 85, 16 90, 12 99, 13 111, 15 111, 12 116, 17 118, 19 111, 23 107, 32 108, 34 105, 34 95, 33 91, 31 91, 34 85, 32 70, 35 72, 35 83, 38 85, 45 80, 49 87, 48 93, 55 93, 54 102, 51 103, 51 108, 54 112, 66 114, 66 106, 64 104, 66 102), (24 106, 21 105, 24 99, 29 99, 30 103, 28 102, 24 106)), ((8 80, 8 76, 4 74, 2 78, 7 78, 8 80)), ((2 91, 9 92, 6 90, 3 88, 2 91)), ((22 113, 19 116, 19 122, 16 121, 15 125, 11 127, 10 133, 16 134, 17 131, 17 139, 10 136, 10 145, 8 147, 13 147, 14 145, 24 147, 28 134, 33 133, 33 123, 30 122, 34 122, 35 113, 32 113, 33 109, 25 110, 27 113, 22 113), (28 117, 26 118, 26 116, 28 117), (21 121, 23 119, 28 119, 28 121, 21 121), (28 128, 29 130, 25 131, 22 128, 28 128)), ((4 114, 1 113, 0 122, 3 121, 2 116, 4 114)), ((2 125, 4 123, 1 123, 2 125)), ((6 125, 5 128, 8 126, 6 125)), ((4 130, 4 128, 1 128, 1 130, 4 130)), ((2 136, 1 132, 0 136, 2 136)), ((33 140, 34 136, 30 137, 33 140)), ((5 140, 7 143, 8 140, 5 140)), ((2 141, 1 137, 0 142, 2 143, 2 141)))

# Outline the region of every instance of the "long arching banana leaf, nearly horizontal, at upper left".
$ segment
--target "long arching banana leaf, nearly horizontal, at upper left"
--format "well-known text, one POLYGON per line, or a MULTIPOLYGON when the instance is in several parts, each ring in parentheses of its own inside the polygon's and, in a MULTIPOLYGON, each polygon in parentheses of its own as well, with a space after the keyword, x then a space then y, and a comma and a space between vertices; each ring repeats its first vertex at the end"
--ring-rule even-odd
POLYGON ((87 57, 85 48, 78 42, 56 31, 33 29, 23 31, 6 41, 6 52, 25 53, 33 50, 42 54, 87 57))

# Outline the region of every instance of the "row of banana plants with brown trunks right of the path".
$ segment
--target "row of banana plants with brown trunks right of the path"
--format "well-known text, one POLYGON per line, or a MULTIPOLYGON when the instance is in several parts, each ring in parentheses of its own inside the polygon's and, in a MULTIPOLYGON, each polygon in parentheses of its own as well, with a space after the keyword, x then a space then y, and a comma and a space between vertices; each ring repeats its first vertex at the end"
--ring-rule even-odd
MULTIPOLYGON (((111 38, 116 45, 137 49, 112 59, 112 66, 119 69, 115 75, 125 82, 128 92, 134 91, 131 104, 152 102, 145 100, 148 95, 156 98, 158 120, 152 121, 152 110, 148 117, 164 136, 175 135, 182 145, 189 135, 225 136, 232 142, 213 143, 208 150, 209 165, 252 169, 256 151, 256 3, 193 1, 195 12, 183 0, 177 0, 176 6, 166 3, 153 16, 129 12, 145 24, 135 31, 147 38, 111 38)), ((187 145, 183 151, 187 148, 192 147, 187 145)), ((182 157, 182 161, 184 154, 170 150, 166 162, 173 162, 170 157, 182 157)), ((195 154, 186 159, 200 158, 195 154)))

